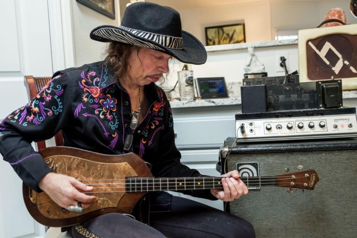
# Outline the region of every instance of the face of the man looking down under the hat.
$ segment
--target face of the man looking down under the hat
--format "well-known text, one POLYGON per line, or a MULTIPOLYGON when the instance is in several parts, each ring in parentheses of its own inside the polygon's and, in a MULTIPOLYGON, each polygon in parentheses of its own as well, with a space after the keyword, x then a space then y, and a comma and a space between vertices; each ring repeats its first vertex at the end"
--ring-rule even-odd
POLYGON ((134 50, 129 57, 128 76, 133 83, 147 85, 156 82, 169 71, 169 59, 172 56, 140 47, 134 50))

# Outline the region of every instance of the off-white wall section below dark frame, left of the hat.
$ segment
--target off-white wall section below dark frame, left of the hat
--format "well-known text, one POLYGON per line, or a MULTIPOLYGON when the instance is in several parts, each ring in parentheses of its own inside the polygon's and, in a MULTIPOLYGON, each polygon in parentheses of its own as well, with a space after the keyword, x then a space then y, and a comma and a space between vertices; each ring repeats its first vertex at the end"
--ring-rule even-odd
POLYGON ((103 60, 106 43, 89 38, 92 29, 100 25, 120 25, 119 1, 115 1, 115 20, 72 1, 75 66, 103 60))

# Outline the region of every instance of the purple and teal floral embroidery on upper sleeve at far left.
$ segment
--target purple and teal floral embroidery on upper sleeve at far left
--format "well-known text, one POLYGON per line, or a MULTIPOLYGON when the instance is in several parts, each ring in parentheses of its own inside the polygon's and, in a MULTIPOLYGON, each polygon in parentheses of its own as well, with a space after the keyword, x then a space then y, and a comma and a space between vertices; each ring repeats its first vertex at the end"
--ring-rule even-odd
POLYGON ((54 86, 53 83, 53 81, 60 76, 61 75, 57 75, 51 79, 30 103, 17 109, 7 116, 7 118, 10 119, 11 122, 18 122, 20 125, 26 127, 29 122, 39 125, 45 120, 46 116, 61 113, 63 106, 59 96, 63 94, 63 89, 61 85, 57 84, 54 86), (51 103, 49 103, 50 101, 51 103), (46 105, 49 105, 49 108, 47 108, 46 105))

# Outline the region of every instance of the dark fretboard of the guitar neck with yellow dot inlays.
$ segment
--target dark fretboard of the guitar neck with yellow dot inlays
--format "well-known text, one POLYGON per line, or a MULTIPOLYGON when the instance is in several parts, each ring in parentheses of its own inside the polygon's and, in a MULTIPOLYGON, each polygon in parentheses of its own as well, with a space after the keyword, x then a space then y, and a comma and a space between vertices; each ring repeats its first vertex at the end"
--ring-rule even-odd
MULTIPOLYGON (((241 177, 248 188, 276 186, 276 177, 241 177)), ((138 178, 125 179, 127 192, 178 191, 223 188, 222 177, 138 178)))

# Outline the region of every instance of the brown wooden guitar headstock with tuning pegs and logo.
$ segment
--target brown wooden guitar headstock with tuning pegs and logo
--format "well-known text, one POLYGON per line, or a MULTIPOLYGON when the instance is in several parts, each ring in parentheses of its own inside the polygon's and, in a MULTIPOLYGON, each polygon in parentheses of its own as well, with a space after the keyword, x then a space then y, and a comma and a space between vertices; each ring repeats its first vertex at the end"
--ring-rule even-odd
MULTIPOLYGON (((276 186, 286 188, 313 190, 318 182, 318 176, 314 169, 296 173, 276 175, 276 186)), ((289 192, 289 191, 288 191, 289 192)))

